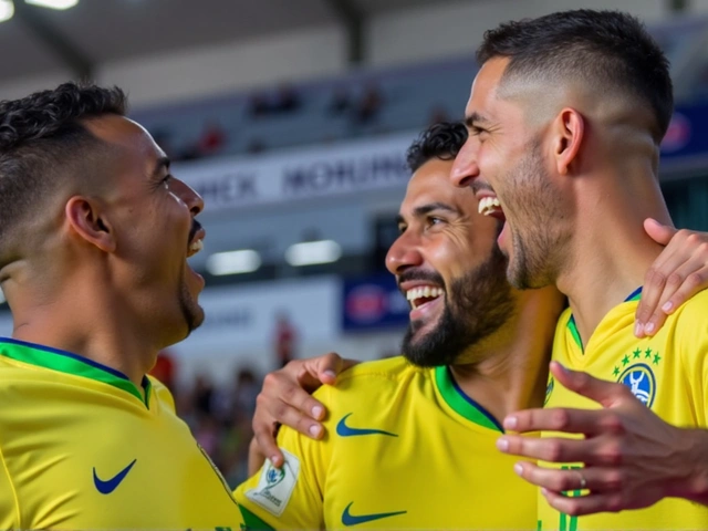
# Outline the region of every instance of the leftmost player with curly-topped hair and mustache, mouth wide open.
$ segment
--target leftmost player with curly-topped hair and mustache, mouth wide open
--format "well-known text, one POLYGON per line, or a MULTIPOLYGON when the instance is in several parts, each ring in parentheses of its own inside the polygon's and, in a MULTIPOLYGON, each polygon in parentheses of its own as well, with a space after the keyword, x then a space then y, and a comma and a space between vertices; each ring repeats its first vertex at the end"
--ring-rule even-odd
POLYGON ((239 529, 226 482, 146 376, 204 320, 201 198, 119 88, 0 103, 0 528, 239 529))

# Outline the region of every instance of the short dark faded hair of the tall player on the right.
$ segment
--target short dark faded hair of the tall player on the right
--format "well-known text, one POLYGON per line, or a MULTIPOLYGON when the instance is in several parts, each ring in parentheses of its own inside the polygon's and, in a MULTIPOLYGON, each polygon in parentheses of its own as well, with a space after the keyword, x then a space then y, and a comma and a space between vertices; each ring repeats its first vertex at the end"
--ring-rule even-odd
POLYGON ((668 60, 635 17, 579 9, 508 22, 485 33, 479 64, 502 56, 509 75, 565 76, 638 97, 655 118, 658 144, 674 112, 668 60))

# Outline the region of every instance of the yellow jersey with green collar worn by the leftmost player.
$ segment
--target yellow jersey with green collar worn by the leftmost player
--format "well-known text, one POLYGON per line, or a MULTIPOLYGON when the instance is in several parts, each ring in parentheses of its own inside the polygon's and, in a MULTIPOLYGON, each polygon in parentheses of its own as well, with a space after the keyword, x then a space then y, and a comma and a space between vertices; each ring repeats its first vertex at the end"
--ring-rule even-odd
POLYGON ((0 339, 0 529, 238 530, 226 482, 169 391, 0 339))

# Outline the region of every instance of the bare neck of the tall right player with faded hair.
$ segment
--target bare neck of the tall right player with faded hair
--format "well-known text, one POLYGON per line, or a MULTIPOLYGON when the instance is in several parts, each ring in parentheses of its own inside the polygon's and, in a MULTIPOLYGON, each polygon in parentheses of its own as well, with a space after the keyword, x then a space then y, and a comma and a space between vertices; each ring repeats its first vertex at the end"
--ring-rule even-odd
POLYGON ((572 260, 556 280, 569 298, 583 345, 607 312, 644 284, 662 252, 662 246, 645 232, 644 220, 653 217, 671 225, 653 178, 615 176, 603 179, 597 188, 602 189, 581 190, 577 219, 582 223, 574 228, 572 260), (633 186, 637 180, 642 186, 633 186))

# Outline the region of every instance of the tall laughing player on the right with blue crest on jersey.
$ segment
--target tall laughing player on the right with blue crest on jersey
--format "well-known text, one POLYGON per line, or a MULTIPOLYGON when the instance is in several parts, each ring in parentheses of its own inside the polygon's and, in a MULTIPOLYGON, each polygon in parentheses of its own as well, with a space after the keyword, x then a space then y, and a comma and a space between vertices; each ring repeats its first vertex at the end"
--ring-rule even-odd
POLYGON ((643 220, 670 222, 658 186, 667 61, 636 19, 589 10, 502 24, 478 59, 454 181, 472 186, 485 214, 500 216, 501 204, 512 285, 555 284, 569 296, 554 360, 616 382, 554 365, 549 409, 504 420, 548 437, 502 437, 500 448, 564 464, 518 466, 544 488, 540 529, 706 529, 708 508, 689 500, 708 502, 708 293, 635 336, 641 285, 660 252, 643 220), (583 409, 597 402, 603 409, 583 409))

